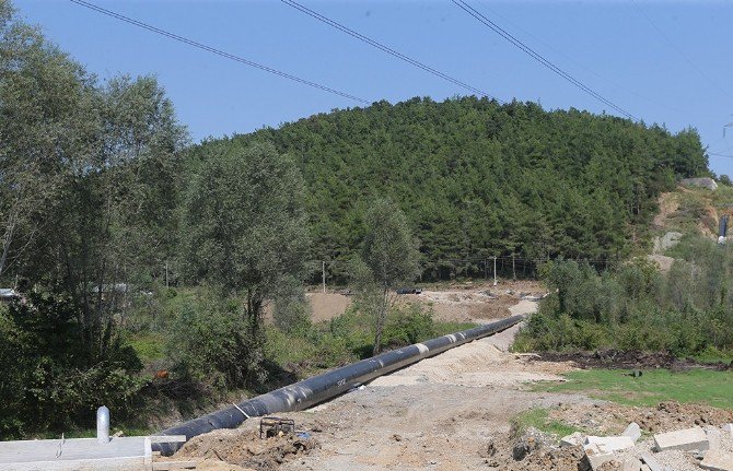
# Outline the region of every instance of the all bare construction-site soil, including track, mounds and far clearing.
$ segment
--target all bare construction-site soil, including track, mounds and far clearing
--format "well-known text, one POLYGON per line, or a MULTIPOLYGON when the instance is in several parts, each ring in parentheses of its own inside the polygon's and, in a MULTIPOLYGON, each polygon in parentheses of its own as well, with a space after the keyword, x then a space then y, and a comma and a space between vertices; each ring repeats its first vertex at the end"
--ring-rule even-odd
MULTIPOLYGON (((533 311, 537 304, 521 299, 521 293, 538 294, 542 287, 504 287, 501 297, 497 296, 498 290, 487 286, 447 291, 447 295, 423 292, 410 297, 422 296, 422 302, 430 297, 442 306, 457 306, 443 313, 481 322, 495 316, 497 306, 502 314, 496 317, 533 311), (486 290, 491 290, 492 296, 482 298, 489 307, 479 310, 481 315, 463 308, 477 302, 486 290)), ((202 460, 198 469, 209 471, 578 471, 585 469, 581 464, 582 447, 557 448, 560 437, 517 429, 513 419, 543 408, 548 410, 549 420, 585 433, 619 434, 630 422, 637 422, 647 437, 685 426, 733 421, 732 411, 696 404, 641 408, 598 401, 583 393, 540 392, 533 382, 563 381, 563 373, 589 365, 509 352, 520 328, 423 360, 311 410, 282 414, 293 419, 296 428, 306 435, 260 439, 259 421, 253 417, 238 429, 191 439, 173 459, 202 460), (526 449, 521 459, 517 446, 526 449)), ((626 366, 619 361, 618 367, 626 366)), ((666 464, 675 470, 699 469, 691 456, 672 454, 660 459, 667 459, 666 464)))

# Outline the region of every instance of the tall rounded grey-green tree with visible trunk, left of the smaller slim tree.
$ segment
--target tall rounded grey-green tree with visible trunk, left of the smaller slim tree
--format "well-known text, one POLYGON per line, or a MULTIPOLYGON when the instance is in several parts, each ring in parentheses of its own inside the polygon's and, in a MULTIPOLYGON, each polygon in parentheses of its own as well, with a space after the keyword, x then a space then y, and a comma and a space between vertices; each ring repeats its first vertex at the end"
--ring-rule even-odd
POLYGON ((310 237, 298 166, 271 144, 207 146, 190 168, 181 227, 194 282, 246 298, 253 332, 265 302, 302 281, 310 237))

